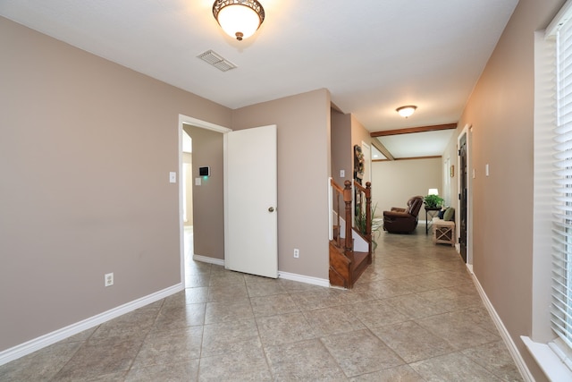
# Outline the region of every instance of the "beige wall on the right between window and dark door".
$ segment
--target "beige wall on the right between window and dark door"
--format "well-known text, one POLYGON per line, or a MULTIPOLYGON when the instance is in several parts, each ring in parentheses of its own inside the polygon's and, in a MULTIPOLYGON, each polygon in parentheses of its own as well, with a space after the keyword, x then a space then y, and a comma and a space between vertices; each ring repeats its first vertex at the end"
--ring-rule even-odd
POLYGON ((562 4, 519 2, 458 123, 458 132, 473 127, 475 275, 538 381, 546 378, 519 338, 533 317, 534 31, 562 4))

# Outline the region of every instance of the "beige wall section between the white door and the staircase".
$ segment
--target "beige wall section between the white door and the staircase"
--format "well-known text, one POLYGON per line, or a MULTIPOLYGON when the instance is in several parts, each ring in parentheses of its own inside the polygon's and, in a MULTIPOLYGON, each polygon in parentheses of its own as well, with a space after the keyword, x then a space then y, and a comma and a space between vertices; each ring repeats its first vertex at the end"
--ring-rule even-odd
POLYGON ((233 130, 278 126, 278 269, 327 279, 330 93, 320 89, 243 107, 232 119, 233 130))

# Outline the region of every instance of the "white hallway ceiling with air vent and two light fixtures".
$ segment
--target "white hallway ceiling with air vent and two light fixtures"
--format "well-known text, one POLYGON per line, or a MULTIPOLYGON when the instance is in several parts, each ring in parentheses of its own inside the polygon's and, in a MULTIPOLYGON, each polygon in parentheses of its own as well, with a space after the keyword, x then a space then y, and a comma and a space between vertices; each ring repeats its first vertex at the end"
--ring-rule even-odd
POLYGON ((329 89, 341 112, 379 132, 456 123, 517 5, 259 1, 265 21, 243 41, 218 26, 214 0, 2 0, 0 15, 230 108, 329 89), (237 68, 197 58, 209 49, 237 68), (400 117, 403 105, 416 113, 400 117))

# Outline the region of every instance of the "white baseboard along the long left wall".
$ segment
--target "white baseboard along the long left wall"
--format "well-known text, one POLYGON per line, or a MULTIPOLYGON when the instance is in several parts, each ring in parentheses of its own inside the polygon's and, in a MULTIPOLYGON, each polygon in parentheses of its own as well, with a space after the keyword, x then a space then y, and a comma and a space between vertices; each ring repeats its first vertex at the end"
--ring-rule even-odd
POLYGON ((36 352, 51 344, 55 344, 67 337, 70 337, 71 335, 77 335, 78 333, 81 333, 84 330, 87 330, 91 327, 97 327, 97 325, 103 324, 104 322, 109 321, 110 319, 117 318, 125 313, 129 313, 132 310, 139 309, 152 302, 164 299, 165 297, 168 297, 173 293, 180 292, 183 289, 184 285, 181 283, 172 285, 168 288, 165 288, 162 291, 149 294, 145 297, 141 297, 138 300, 130 301, 127 302, 126 304, 118 306, 117 308, 107 310, 103 313, 98 314, 97 316, 86 318, 80 322, 71 324, 70 326, 55 330, 52 333, 41 335, 38 338, 29 340, 24 344, 13 346, 10 349, 6 349, 3 352, 0 352, 0 365, 4 365, 4 363, 17 360, 23 357, 24 355, 36 352))

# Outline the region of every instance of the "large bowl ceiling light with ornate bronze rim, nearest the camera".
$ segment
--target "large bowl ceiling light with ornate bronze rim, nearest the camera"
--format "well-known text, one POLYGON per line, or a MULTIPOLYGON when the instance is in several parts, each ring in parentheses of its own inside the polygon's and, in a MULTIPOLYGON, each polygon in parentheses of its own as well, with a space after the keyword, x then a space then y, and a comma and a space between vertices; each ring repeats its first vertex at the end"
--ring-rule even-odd
POLYGON ((265 21, 265 9, 257 0, 216 0, 213 15, 224 32, 239 41, 252 36, 265 21))

